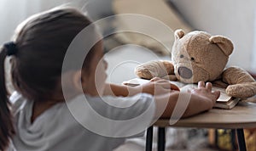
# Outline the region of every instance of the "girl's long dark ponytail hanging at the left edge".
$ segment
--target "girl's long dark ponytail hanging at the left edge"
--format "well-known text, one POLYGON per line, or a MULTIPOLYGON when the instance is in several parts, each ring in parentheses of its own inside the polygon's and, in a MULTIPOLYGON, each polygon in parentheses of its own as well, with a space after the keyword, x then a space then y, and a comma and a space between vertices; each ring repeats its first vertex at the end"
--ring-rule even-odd
POLYGON ((2 151, 8 147, 10 138, 15 134, 15 129, 9 109, 9 98, 4 77, 6 48, 3 47, 0 51, 0 150, 2 151))

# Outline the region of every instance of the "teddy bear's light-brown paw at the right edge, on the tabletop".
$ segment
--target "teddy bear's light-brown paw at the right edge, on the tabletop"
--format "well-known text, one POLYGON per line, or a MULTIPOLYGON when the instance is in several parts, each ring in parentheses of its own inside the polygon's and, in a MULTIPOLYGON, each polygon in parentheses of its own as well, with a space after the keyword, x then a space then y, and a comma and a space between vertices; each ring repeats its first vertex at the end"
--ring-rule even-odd
POLYGON ((228 95, 235 98, 249 98, 256 94, 256 82, 230 85, 226 88, 228 95))

